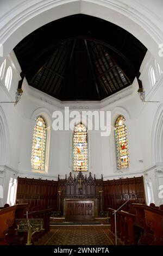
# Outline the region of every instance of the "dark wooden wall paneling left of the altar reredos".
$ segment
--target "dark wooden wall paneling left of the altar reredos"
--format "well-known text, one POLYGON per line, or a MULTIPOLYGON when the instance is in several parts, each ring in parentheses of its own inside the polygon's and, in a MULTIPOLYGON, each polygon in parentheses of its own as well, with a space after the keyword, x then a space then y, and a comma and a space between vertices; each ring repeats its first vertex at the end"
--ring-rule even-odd
POLYGON ((30 210, 54 208, 57 210, 58 181, 18 177, 16 200, 28 203, 30 210))

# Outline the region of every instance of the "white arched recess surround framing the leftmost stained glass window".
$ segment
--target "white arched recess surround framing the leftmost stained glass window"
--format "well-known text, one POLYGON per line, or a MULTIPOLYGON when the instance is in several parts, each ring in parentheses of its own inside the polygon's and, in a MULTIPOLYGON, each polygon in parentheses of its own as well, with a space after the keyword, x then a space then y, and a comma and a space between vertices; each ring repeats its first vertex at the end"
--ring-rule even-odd
MULTIPOLYGON (((35 120, 37 117, 42 117, 46 123, 46 151, 45 151, 45 168, 44 170, 33 170, 34 172, 39 173, 48 173, 48 168, 51 165, 51 150, 50 150, 50 139, 51 139, 51 130, 52 130, 52 121, 51 121, 51 113, 46 108, 37 108, 31 115, 31 119, 33 120, 33 124, 35 126, 35 120)), ((34 129, 33 126, 33 129, 34 129)), ((31 145, 32 149, 32 145, 31 145)))

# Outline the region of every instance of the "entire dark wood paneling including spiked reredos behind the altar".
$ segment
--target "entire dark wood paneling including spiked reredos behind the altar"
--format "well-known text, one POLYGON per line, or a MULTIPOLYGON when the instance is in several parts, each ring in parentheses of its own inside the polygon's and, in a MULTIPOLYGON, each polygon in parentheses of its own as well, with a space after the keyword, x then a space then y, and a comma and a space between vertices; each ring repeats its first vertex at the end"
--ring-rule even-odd
POLYGON ((74 177, 70 176, 58 181, 36 180, 27 178, 18 178, 17 198, 18 203, 29 203, 31 210, 39 206, 39 209, 53 207, 64 214, 64 199, 90 199, 97 198, 98 214, 100 208, 100 194, 103 191, 103 210, 110 207, 117 209, 131 196, 133 199, 127 203, 123 210, 128 210, 130 203, 145 203, 145 192, 143 177, 134 177, 118 180, 106 180, 92 178, 91 173, 87 177, 82 172, 74 177), (82 180, 82 190, 79 189, 82 180), (58 188, 60 188, 60 206, 57 205, 58 188), (60 208, 60 209, 58 209, 60 208))

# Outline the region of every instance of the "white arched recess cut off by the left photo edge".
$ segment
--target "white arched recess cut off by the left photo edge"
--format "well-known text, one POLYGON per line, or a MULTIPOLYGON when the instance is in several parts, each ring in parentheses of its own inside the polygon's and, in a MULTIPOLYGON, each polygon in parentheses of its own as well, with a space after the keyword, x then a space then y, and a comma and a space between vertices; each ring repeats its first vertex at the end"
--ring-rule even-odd
POLYGON ((7 119, 0 106, 0 164, 8 164, 10 160, 10 135, 7 119))

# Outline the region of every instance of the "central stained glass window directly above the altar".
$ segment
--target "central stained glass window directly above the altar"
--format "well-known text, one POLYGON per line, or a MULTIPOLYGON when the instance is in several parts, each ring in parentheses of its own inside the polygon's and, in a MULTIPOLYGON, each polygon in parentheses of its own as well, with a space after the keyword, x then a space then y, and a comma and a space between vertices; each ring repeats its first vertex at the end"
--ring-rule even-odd
POLYGON ((87 130, 83 124, 78 124, 74 128, 73 170, 76 172, 88 170, 87 130))

